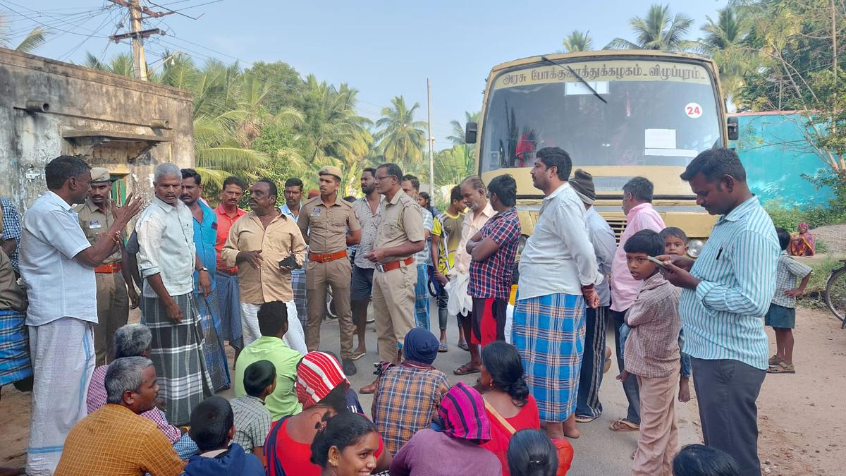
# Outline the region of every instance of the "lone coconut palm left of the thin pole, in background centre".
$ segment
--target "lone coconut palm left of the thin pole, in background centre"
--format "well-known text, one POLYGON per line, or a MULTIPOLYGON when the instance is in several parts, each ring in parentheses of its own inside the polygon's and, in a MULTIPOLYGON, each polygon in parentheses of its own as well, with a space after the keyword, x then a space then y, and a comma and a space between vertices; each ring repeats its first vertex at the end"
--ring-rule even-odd
POLYGON ((394 97, 393 107, 382 108, 382 118, 376 121, 374 139, 385 160, 403 163, 404 169, 417 169, 423 159, 426 147, 426 122, 415 120, 415 111, 420 103, 411 108, 405 105, 405 98, 394 97))

